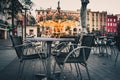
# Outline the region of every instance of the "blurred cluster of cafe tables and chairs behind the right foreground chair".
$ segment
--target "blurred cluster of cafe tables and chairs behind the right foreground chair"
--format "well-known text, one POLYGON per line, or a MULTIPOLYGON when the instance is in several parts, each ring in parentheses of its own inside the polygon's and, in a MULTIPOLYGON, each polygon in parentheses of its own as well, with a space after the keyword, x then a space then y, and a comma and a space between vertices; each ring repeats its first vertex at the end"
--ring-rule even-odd
POLYGON ((94 50, 99 53, 99 56, 111 56, 115 53, 114 37, 95 37, 94 50))

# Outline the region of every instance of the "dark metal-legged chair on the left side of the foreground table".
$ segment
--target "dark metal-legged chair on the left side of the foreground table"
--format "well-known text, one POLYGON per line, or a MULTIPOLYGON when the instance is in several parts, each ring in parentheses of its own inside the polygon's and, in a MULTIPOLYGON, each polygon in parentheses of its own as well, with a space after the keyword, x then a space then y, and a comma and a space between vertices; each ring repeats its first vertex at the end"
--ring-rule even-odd
MULTIPOLYGON (((17 74, 17 79, 21 79, 22 77, 22 73, 23 73, 23 69, 24 69, 24 64, 26 60, 33 60, 33 59, 41 59, 42 62, 45 62, 45 59, 47 58, 47 56, 45 55, 45 53, 42 52, 38 52, 35 49, 35 46, 32 45, 32 43, 23 43, 22 41, 22 37, 21 36, 10 36, 13 47, 15 49, 15 52, 17 54, 17 57, 20 61, 19 64, 19 69, 18 69, 18 74, 17 74), (32 50, 34 50, 33 54, 32 53, 27 53, 27 49, 31 48, 32 50)), ((44 70, 46 70, 46 66, 45 63, 43 62, 43 67, 44 70)))

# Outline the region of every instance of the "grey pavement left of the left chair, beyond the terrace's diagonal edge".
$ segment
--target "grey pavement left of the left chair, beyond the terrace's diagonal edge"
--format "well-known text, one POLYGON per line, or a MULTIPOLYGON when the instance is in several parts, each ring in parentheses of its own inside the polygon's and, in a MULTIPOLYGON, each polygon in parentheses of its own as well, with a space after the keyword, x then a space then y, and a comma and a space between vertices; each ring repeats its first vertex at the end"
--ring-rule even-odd
POLYGON ((10 38, 0 39, 0 71, 10 64, 15 58, 16 54, 12 48, 10 38))

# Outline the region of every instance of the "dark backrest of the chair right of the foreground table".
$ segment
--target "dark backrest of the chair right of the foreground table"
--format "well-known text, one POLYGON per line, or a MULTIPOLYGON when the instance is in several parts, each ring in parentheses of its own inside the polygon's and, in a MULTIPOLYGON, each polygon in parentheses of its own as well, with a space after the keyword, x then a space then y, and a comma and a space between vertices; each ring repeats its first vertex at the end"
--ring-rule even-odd
MULTIPOLYGON (((81 46, 92 47, 94 45, 94 38, 95 38, 94 35, 84 35, 81 41, 82 42, 81 46)), ((84 58, 85 60, 87 60, 90 55, 90 52, 91 52, 91 49, 84 48, 84 51, 83 51, 83 48, 82 48, 80 49, 80 53, 78 57, 82 60, 84 60, 84 58), (83 52, 85 52, 85 54, 83 52)))

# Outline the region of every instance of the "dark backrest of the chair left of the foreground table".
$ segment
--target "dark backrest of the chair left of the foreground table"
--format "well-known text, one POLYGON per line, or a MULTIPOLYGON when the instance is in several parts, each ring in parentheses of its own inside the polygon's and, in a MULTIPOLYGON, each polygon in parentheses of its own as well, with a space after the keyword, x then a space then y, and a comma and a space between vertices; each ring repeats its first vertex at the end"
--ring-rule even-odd
POLYGON ((19 59, 21 59, 22 56, 24 55, 23 54, 23 50, 24 49, 23 49, 23 46, 18 46, 18 45, 22 45, 23 44, 22 37, 21 36, 10 36, 10 38, 11 38, 11 41, 12 41, 12 45, 15 48, 17 57, 19 59))

